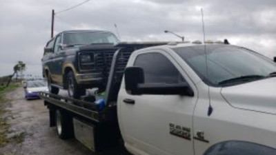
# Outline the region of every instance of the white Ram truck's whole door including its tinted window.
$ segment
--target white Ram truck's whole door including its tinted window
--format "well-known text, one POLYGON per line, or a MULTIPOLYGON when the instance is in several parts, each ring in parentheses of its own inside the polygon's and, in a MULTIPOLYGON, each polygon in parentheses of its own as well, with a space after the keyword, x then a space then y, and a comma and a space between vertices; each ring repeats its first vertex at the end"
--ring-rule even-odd
POLYGON ((136 154, 194 154, 195 85, 175 59, 163 50, 138 54, 132 64, 144 69, 145 83, 187 81, 195 95, 131 95, 123 83, 119 92, 118 115, 127 149, 136 154), (126 99, 133 102, 126 103, 126 99))

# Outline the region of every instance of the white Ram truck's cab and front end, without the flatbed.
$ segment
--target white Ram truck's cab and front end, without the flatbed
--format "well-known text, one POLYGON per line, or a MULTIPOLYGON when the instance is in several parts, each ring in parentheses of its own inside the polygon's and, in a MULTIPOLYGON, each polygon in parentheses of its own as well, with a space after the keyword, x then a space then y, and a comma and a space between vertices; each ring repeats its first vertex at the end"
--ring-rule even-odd
POLYGON ((162 45, 128 61, 117 101, 132 154, 275 154, 276 71, 233 45, 162 45))

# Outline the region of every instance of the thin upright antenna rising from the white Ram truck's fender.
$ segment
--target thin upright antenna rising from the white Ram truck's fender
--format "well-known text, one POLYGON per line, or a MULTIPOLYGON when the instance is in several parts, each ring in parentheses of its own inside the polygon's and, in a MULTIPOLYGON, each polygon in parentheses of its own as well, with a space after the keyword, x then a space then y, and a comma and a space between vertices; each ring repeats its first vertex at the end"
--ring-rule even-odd
MULTIPOLYGON (((206 43, 205 43, 205 26, 204 26, 204 15, 203 9, 201 8, 201 19, 202 19, 202 32, 203 32, 203 42, 204 42, 204 53, 205 53, 205 64, 206 64, 206 76, 208 76, 208 63, 207 63, 207 53, 206 53, 206 43)), ((208 116, 210 116, 213 112, 213 107, 210 103, 210 87, 208 86, 208 99, 209 99, 209 107, 208 107, 208 116)))

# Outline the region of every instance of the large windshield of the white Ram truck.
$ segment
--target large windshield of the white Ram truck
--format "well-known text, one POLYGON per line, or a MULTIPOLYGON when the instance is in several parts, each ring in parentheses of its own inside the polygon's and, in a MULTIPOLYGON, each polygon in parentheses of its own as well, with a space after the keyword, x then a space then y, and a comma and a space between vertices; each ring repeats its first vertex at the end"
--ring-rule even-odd
POLYGON ((256 52, 231 45, 206 45, 206 54, 204 45, 173 50, 208 85, 221 86, 226 83, 236 85, 250 80, 263 79, 276 71, 276 65, 272 60, 256 52))

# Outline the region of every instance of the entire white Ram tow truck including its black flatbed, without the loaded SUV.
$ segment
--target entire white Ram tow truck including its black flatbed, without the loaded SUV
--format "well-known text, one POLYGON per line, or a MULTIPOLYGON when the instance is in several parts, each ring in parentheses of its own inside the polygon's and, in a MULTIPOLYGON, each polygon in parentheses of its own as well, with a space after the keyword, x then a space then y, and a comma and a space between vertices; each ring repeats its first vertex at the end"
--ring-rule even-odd
POLYGON ((93 151, 123 139, 135 155, 276 154, 273 61, 235 45, 161 44, 117 45, 104 104, 41 92, 59 137, 93 151))

